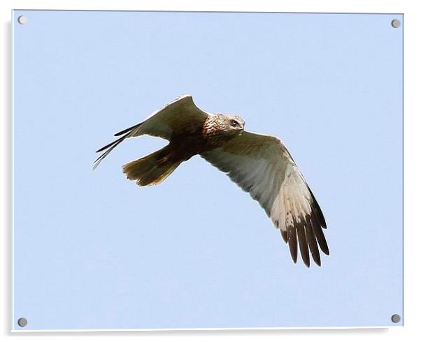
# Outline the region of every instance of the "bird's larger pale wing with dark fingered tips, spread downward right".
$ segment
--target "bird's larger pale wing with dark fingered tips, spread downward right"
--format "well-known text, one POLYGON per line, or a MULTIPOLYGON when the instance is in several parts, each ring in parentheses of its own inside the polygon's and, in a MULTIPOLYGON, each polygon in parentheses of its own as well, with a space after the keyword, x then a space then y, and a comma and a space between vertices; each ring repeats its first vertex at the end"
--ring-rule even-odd
POLYGON ((243 132, 223 147, 201 156, 259 202, 276 228, 280 228, 294 262, 298 241, 307 267, 308 248, 320 266, 319 247, 329 255, 322 231, 326 222, 303 175, 277 137, 243 132))

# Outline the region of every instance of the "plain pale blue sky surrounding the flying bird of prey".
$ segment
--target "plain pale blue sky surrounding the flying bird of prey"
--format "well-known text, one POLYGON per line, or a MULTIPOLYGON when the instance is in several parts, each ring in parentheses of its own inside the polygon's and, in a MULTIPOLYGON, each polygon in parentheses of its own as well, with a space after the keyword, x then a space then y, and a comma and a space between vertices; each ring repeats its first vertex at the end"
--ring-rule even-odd
POLYGON ((13 329, 394 325, 394 18, 14 11, 13 329), (257 202, 199 157, 159 186, 127 181, 122 164, 164 140, 127 140, 92 171, 113 133, 184 93, 285 142, 327 220, 322 267, 294 265, 257 202))

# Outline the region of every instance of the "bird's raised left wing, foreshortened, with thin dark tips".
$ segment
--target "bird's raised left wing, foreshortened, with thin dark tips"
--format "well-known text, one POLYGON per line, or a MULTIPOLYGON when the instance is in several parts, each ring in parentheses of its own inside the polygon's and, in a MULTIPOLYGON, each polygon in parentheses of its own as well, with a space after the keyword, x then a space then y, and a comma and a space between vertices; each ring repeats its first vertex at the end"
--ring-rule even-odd
POLYGON ((148 119, 145 119, 140 124, 115 133, 116 137, 121 136, 97 151, 97 153, 103 153, 94 161, 94 169, 108 156, 110 151, 113 151, 127 137, 137 137, 147 134, 170 140, 173 135, 192 131, 200 124, 204 124, 207 117, 208 113, 194 104, 191 95, 178 96, 174 101, 167 103, 160 110, 152 113, 148 119))

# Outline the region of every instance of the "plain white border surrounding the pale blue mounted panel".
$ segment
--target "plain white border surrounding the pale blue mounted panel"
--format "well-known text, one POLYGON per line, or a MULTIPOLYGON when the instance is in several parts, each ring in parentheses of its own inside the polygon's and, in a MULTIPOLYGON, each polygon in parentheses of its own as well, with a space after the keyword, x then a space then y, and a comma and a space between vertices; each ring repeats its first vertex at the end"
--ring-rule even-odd
MULTIPOLYGON (((26 336, 36 336, 36 338, 44 340, 44 336, 75 336, 78 340, 83 339, 83 336, 90 338, 100 338, 103 340, 122 338, 136 338, 142 336, 144 339, 156 338, 160 339, 173 338, 179 341, 186 339, 213 339, 215 336, 219 339, 241 339, 241 341, 255 341, 257 336, 259 339, 276 339, 281 337, 309 339, 312 341, 329 341, 333 339, 336 341, 340 336, 341 340, 352 341, 355 338, 369 337, 370 341, 410 341, 419 338, 419 308, 420 303, 420 276, 418 276, 418 259, 419 259, 419 241, 421 241, 420 227, 418 219, 418 203, 420 198, 420 44, 419 33, 421 31, 421 17, 418 10, 417 1, 401 0, 401 1, 332 1, 332 0, 303 0, 303 1, 183 1, 176 2, 171 0, 166 1, 129 1, 129 0, 38 0, 34 1, 13 1, 3 0, 0 2, 1 19, 3 27, 2 47, 5 51, 1 54, 3 66, 3 82, 1 83, 1 101, 3 104, 3 115, 1 116, 1 128, 3 129, 3 149, 1 149, 1 157, 4 167, 1 168, 3 177, 3 186, 6 193, 3 193, 1 198, 1 213, 0 217, 3 219, 3 262, 1 263, 2 273, 5 277, 3 281, 3 303, 6 308, 1 311, 1 322, 3 324, 3 337, 10 338, 10 10, 12 8, 34 8, 34 9, 86 9, 86 10, 218 10, 218 11, 273 11, 273 12, 334 12, 334 13, 404 13, 405 14, 405 265, 406 265, 406 282, 405 282, 405 325, 404 329, 352 329, 350 327, 337 327, 335 329, 308 328, 308 329, 218 329, 219 332, 208 332, 208 329, 171 329, 169 330, 145 330, 143 333, 137 330, 90 330, 80 331, 71 330, 70 332, 63 331, 49 331, 45 332, 31 332, 25 330, 26 336), (408 186, 408 184, 410 186, 408 186), (411 256, 411 257, 410 257, 411 256), (342 332, 341 332, 342 331, 342 332), (126 332, 126 334, 124 334, 126 332), (132 332, 132 333, 131 333, 132 332), (311 334, 309 336, 308 334, 311 334), (81 335, 82 334, 82 335, 81 335), (286 334, 286 336, 285 336, 286 334), (355 336, 357 334, 358 336, 355 336)), ((3 50, 2 49, 2 50, 3 50)), ((23 332, 23 331, 17 331, 23 332)), ((22 334, 14 334, 13 339, 23 338, 22 334)), ((16 341, 16 340, 14 340, 16 341)))

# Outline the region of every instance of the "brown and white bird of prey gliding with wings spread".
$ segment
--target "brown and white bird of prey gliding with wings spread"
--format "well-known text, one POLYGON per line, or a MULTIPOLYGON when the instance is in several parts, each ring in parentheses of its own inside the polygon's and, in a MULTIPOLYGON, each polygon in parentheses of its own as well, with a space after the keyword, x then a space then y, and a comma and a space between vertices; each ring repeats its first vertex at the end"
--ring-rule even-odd
POLYGON ((292 260, 317 265, 320 250, 329 255, 322 228, 326 221, 311 189, 278 137, 244 131, 237 115, 211 114, 197 107, 191 95, 167 103, 148 119, 124 129, 117 140, 97 152, 94 169, 128 137, 153 135, 169 140, 164 148, 123 165, 128 179, 139 186, 156 185, 180 163, 199 154, 226 173, 231 181, 257 200, 290 247, 292 260))

